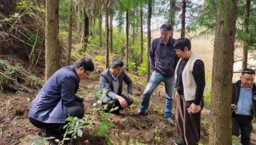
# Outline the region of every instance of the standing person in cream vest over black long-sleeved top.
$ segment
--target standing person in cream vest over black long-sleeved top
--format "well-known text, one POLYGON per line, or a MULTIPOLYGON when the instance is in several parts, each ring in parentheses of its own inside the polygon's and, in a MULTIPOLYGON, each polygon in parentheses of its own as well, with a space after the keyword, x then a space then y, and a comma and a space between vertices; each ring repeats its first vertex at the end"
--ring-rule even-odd
POLYGON ((174 48, 180 61, 175 70, 176 126, 180 139, 176 145, 197 145, 200 140, 201 110, 204 106, 204 63, 191 51, 191 41, 177 39, 174 48))

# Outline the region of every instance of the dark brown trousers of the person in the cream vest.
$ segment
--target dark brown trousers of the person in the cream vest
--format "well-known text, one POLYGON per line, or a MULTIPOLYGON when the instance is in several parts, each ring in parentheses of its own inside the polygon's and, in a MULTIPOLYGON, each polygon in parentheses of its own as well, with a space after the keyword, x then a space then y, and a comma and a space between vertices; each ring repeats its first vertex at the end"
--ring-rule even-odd
MULTIPOLYGON (((187 108, 193 101, 185 101, 184 95, 177 97, 176 104, 176 127, 182 140, 187 145, 196 145, 200 140, 201 111, 189 114, 187 108)), ((203 109, 204 101, 200 102, 203 109)))

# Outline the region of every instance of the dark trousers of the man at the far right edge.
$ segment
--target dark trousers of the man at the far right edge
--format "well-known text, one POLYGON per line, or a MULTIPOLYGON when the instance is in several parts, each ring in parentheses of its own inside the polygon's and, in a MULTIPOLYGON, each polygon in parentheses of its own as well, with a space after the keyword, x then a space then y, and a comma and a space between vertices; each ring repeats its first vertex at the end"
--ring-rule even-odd
POLYGON ((235 112, 232 114, 232 135, 236 135, 238 137, 241 134, 242 145, 251 144, 250 136, 251 131, 253 130, 253 126, 251 124, 252 119, 252 116, 238 115, 235 112))

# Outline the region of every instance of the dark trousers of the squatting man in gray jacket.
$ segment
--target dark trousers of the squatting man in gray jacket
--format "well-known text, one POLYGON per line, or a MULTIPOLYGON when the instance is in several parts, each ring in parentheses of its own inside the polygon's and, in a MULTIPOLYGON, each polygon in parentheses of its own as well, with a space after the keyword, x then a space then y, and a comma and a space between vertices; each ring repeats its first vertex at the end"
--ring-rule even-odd
MULTIPOLYGON (((130 99, 128 99, 128 97, 126 97, 126 95, 120 95, 123 99, 125 99, 125 101, 127 102, 128 106, 131 106, 134 101, 130 101, 130 99)), ((108 96, 103 97, 102 99, 102 104, 108 104, 107 110, 111 110, 111 108, 115 108, 118 107, 117 111, 124 109, 119 101, 115 101, 113 99, 111 99, 108 96)))

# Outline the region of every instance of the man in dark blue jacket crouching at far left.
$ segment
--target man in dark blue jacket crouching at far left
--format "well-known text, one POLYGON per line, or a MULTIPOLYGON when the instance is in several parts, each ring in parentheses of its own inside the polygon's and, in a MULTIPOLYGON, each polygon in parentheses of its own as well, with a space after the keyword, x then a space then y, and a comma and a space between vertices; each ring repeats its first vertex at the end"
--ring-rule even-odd
POLYGON ((93 71, 93 62, 84 57, 55 72, 32 101, 29 110, 30 122, 37 128, 46 129, 46 137, 62 140, 65 119, 68 116, 82 119, 84 110, 89 107, 88 100, 75 94, 80 80, 86 79, 93 71))

